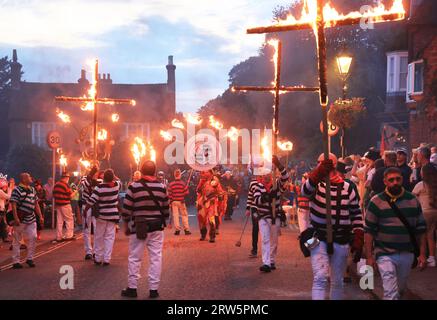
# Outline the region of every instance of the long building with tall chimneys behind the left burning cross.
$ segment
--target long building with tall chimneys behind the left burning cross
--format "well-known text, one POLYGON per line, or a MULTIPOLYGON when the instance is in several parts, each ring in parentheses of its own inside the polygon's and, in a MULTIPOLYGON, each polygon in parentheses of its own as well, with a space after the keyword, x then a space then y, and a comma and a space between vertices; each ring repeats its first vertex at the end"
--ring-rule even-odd
MULTIPOLYGON (((99 106, 99 126, 106 129, 116 143, 135 136, 149 139, 152 133, 159 130, 161 123, 174 118, 176 66, 172 56, 169 56, 166 68, 167 82, 159 84, 117 84, 109 73, 99 74, 99 97, 136 100, 136 106, 99 106), (113 113, 119 114, 119 122, 112 122, 113 113)), ((54 129, 62 134, 62 147, 70 153, 79 154, 77 151, 82 150, 78 150, 81 145, 77 139, 80 133, 87 133, 91 137, 93 112, 82 111, 79 104, 55 102, 54 98, 84 96, 90 87, 85 70, 81 71, 77 83, 38 83, 23 81, 21 69, 17 51, 14 50, 8 111, 2 112, 0 117, 0 127, 3 129, 3 141, 0 143, 2 154, 5 155, 15 145, 34 144, 47 148, 46 135, 54 129), (57 109, 70 115, 72 123, 64 124, 57 117, 57 109)))

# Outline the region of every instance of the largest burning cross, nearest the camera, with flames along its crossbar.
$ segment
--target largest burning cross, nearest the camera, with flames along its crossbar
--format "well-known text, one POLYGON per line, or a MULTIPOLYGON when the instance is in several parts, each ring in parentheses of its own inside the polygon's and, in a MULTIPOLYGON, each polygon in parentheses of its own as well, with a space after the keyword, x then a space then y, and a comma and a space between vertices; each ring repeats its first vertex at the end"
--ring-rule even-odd
MULTIPOLYGON (((402 0, 394 0, 391 9, 386 10, 379 5, 365 13, 351 12, 347 15, 339 14, 325 0, 305 0, 304 11, 300 20, 290 16, 284 21, 267 27, 256 27, 247 30, 248 34, 277 33, 285 31, 313 29, 317 41, 317 59, 319 71, 319 95, 322 107, 323 122, 323 153, 324 158, 329 159, 328 144, 328 84, 327 84, 327 59, 326 59, 326 37, 325 28, 334 26, 346 26, 365 23, 380 23, 397 21, 405 18, 405 9, 402 0)), ((329 177, 326 178, 326 190, 331 190, 329 177)), ((326 227, 328 253, 333 253, 333 232, 331 216, 331 193, 326 192, 326 227)))

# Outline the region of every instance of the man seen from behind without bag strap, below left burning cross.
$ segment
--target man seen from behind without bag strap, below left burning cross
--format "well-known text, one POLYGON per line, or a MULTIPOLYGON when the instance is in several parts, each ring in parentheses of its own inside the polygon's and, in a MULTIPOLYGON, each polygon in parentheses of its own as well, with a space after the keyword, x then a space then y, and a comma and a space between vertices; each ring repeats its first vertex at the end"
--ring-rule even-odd
POLYGON ((115 227, 120 221, 118 210, 121 182, 115 179, 114 171, 107 169, 103 183, 96 186, 88 199, 85 211, 97 205, 96 232, 94 234, 94 263, 109 266, 115 241, 115 227))

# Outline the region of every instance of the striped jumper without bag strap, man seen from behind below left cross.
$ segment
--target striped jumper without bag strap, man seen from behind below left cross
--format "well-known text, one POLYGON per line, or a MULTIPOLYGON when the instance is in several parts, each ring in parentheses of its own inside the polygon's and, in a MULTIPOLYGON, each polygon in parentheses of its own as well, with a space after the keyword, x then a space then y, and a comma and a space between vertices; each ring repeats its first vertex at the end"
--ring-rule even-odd
POLYGON ((88 205, 97 204, 99 210, 98 219, 118 223, 120 214, 118 212, 120 181, 112 183, 103 182, 96 186, 88 199, 88 205))

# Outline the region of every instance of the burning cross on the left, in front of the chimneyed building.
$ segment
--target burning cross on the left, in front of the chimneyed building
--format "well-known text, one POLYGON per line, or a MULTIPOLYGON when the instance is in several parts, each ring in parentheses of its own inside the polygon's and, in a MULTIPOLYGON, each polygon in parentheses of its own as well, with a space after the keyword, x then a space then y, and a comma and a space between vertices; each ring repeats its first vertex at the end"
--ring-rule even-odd
POLYGON ((93 155, 94 162, 97 163, 97 105, 115 105, 115 104, 128 104, 135 106, 136 102, 132 99, 112 99, 112 98, 99 98, 98 97, 98 85, 99 85, 99 61, 94 61, 94 74, 93 83, 91 89, 88 91, 88 96, 83 97, 55 97, 55 101, 61 102, 79 102, 86 103, 86 107, 83 110, 93 110, 93 155))

